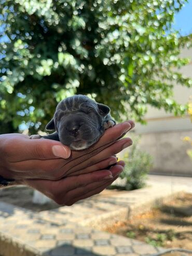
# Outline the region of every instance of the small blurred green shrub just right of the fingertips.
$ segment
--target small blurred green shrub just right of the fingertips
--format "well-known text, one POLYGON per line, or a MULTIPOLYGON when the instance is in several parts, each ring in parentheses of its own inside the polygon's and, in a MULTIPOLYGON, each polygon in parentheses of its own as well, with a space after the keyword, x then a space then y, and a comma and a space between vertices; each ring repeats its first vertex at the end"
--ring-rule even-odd
POLYGON ((143 187, 147 173, 153 166, 152 157, 139 149, 139 140, 140 137, 133 139, 133 145, 123 157, 126 166, 124 172, 120 174, 120 178, 126 180, 126 190, 135 190, 143 187))

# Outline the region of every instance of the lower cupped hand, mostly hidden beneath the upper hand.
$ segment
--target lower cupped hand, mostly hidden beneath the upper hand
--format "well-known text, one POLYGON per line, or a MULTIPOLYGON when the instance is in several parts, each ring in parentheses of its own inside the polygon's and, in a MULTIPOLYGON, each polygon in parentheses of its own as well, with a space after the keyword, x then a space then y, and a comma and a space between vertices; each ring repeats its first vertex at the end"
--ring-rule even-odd
MULTIPOLYGON (((109 158, 105 163, 103 161, 103 165, 108 165, 110 161, 115 163, 115 160, 109 158)), ((118 178, 124 166, 124 161, 119 161, 110 170, 97 170, 77 176, 66 177, 57 181, 26 179, 23 180, 23 184, 42 192, 59 205, 71 206, 81 199, 102 192, 118 178)))

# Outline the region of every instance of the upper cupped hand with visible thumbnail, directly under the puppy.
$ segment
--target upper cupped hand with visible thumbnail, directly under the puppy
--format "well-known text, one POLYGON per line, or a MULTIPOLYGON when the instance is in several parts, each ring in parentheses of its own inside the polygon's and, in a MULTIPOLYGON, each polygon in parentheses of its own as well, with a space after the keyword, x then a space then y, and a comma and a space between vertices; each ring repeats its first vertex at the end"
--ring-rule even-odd
POLYGON ((58 141, 31 140, 20 133, 0 135, 0 175, 16 180, 60 180, 98 170, 97 167, 95 169, 95 164, 132 144, 129 138, 118 139, 133 126, 131 121, 118 124, 106 130, 100 140, 89 149, 72 152, 58 141))

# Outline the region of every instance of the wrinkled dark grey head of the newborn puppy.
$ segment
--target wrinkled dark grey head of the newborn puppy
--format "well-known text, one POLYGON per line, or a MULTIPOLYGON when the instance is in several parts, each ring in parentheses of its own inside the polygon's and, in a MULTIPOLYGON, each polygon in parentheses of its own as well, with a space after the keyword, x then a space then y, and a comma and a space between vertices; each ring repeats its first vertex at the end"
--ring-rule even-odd
POLYGON ((56 130, 59 140, 72 150, 83 150, 94 144, 104 132, 108 106, 87 96, 76 95, 62 100, 47 124, 47 130, 56 130))

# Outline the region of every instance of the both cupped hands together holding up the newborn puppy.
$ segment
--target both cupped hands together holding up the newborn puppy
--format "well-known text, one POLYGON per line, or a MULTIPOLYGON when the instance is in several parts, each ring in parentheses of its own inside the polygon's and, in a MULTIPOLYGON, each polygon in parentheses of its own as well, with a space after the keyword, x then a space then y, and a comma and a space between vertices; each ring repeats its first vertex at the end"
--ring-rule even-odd
POLYGON ((73 205, 117 179, 125 163, 114 155, 132 144, 130 138, 119 138, 133 127, 128 121, 109 128, 97 143, 81 151, 71 151, 59 141, 2 134, 0 176, 15 179, 15 185, 31 186, 60 205, 73 205))

